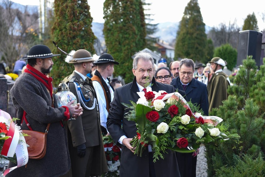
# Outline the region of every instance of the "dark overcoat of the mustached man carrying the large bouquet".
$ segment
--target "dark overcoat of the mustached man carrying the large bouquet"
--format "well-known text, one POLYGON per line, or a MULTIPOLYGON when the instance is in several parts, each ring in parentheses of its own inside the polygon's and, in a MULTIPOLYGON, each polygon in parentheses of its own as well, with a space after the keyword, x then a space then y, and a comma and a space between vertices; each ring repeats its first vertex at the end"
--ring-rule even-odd
MULTIPOLYGON (((174 92, 174 87, 156 82, 152 79, 152 91, 164 90, 167 93, 174 92)), ((110 103, 109 115, 107 118, 107 128, 114 141, 119 144, 118 140, 123 135, 128 138, 136 136, 136 125, 133 121, 128 121, 124 115, 129 112, 122 103, 131 104, 130 100, 137 102, 140 98, 136 77, 133 82, 122 87, 116 88, 114 91, 114 99, 110 103), (122 126, 122 128, 121 128, 122 126)), ((168 154, 164 154, 164 160, 160 159, 154 163, 154 168, 157 177, 178 177, 179 168, 175 153, 168 150, 168 154)), ((134 155, 126 146, 122 145, 120 177, 146 177, 149 176, 149 155, 146 149, 142 153, 142 157, 134 155)))

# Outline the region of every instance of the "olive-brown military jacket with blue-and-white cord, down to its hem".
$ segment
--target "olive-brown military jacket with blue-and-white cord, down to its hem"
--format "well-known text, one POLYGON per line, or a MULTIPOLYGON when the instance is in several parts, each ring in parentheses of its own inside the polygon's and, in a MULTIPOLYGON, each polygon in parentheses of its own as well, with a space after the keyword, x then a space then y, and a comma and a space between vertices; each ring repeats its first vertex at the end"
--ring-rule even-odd
POLYGON ((77 147, 83 143, 86 144, 86 147, 101 144, 100 119, 97 105, 94 109, 87 110, 81 103, 82 96, 78 96, 76 91, 76 86, 79 86, 78 89, 81 90, 84 100, 89 100, 84 101, 84 103, 90 108, 96 98, 95 89, 91 79, 86 77, 86 80, 84 81, 78 73, 73 72, 70 76, 66 77, 64 81, 68 83, 70 91, 77 97, 77 103, 80 103, 83 108, 83 114, 81 116, 76 120, 67 121, 73 147, 77 147))

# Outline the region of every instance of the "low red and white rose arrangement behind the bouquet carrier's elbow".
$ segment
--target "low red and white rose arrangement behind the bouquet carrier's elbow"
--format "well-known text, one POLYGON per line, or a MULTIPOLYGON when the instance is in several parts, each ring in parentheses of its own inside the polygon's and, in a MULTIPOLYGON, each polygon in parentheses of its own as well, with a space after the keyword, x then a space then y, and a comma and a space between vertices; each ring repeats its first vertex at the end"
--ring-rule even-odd
POLYGON ((115 145, 111 136, 103 136, 102 137, 105 156, 107 159, 108 172, 101 175, 102 177, 118 177, 119 176, 119 168, 120 168, 120 156, 121 149, 117 145, 115 145))

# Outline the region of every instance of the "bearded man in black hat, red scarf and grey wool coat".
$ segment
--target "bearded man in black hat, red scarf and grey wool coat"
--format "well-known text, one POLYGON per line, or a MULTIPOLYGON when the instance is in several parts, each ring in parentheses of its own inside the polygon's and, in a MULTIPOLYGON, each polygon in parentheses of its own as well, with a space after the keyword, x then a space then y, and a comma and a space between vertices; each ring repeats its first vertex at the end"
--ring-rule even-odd
MULTIPOLYGON (((21 125, 22 131, 32 129, 45 132, 48 123, 50 126, 45 156, 39 160, 29 159, 27 166, 11 171, 7 177, 62 176, 71 167, 62 120, 76 118, 82 114, 82 108, 71 106, 73 102, 58 108, 56 100, 53 99, 53 79, 46 74, 53 66, 51 57, 57 55, 59 54, 52 54, 46 45, 39 44, 30 48, 27 58, 21 59, 27 59, 28 64, 25 72, 18 77, 10 90, 19 119, 16 123, 21 125)), ((10 162, 9 167, 13 166, 16 164, 10 162)))

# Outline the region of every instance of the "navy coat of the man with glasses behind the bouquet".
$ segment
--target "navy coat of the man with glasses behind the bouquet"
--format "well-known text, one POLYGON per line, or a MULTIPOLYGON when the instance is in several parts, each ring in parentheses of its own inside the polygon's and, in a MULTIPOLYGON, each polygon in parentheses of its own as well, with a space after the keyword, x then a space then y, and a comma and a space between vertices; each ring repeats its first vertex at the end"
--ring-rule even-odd
MULTIPOLYGON (((178 90, 184 90, 179 77, 174 78, 171 82, 171 85, 178 90)), ((208 115, 208 92, 207 86, 204 83, 193 78, 186 87, 185 93, 187 95, 188 101, 191 100, 193 104, 197 103, 199 109, 203 110, 204 115, 208 115)))

